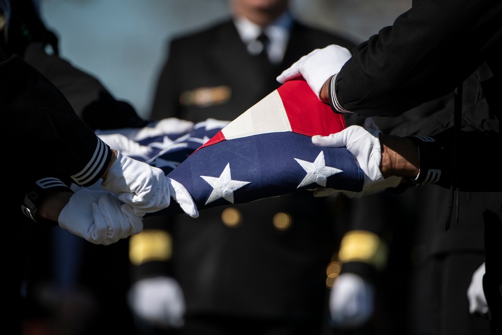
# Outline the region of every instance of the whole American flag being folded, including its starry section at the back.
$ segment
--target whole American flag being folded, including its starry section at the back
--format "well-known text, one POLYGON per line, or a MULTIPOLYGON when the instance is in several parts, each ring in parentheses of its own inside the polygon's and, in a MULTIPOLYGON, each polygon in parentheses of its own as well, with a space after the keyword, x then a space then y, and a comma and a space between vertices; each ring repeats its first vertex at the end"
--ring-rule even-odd
MULTIPOLYGON (((161 168, 198 210, 328 187, 358 192, 363 172, 346 148, 312 144, 345 128, 306 81, 290 80, 232 122, 170 118, 142 129, 96 132, 122 154, 161 168)), ((168 208, 147 214, 178 214, 168 208)))

